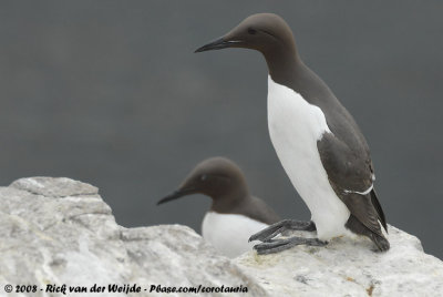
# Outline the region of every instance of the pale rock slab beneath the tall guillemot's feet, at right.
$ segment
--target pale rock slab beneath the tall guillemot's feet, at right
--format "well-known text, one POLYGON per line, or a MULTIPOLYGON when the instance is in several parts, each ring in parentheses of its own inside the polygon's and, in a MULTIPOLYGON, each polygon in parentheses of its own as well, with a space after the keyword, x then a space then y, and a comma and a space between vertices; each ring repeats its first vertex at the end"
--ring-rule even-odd
POLYGON ((236 259, 274 296, 443 296, 443 263, 420 240, 389 226, 391 249, 367 239, 336 238, 326 247, 298 246, 236 259))

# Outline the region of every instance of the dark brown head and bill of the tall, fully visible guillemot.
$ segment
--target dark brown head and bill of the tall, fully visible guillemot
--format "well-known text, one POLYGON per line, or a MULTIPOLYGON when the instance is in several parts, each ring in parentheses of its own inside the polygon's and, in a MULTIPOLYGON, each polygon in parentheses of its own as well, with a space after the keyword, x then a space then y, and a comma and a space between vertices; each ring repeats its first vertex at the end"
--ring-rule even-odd
POLYGON ((224 37, 198 48, 195 52, 244 48, 265 54, 278 54, 281 49, 296 51, 292 31, 284 19, 274 13, 258 13, 246 18, 224 37))

